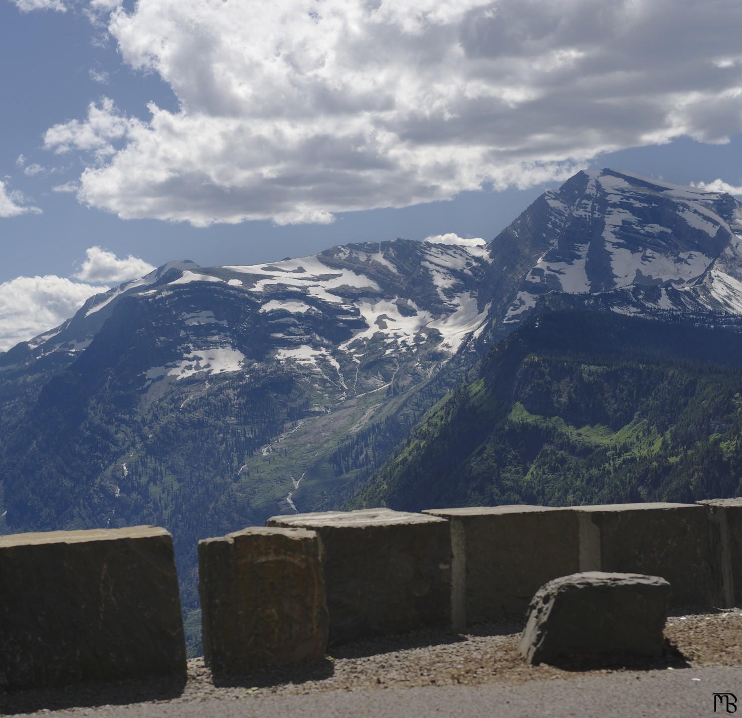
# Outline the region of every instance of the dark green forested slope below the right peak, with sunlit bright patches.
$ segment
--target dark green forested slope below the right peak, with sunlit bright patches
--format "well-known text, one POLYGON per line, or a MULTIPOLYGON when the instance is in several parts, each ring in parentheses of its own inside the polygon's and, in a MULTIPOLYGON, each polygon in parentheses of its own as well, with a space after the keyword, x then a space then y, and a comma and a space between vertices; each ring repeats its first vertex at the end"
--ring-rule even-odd
POLYGON ((741 477, 742 335, 556 312, 491 350, 350 503, 695 501, 741 477))

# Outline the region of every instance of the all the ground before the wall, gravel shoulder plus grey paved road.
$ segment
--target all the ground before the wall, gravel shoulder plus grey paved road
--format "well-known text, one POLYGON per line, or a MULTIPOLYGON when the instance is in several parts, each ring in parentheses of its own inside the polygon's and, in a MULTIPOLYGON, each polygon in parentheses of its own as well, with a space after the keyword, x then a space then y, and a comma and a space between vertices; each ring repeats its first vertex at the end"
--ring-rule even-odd
MULTIPOLYGON (((338 715, 352 711, 361 716, 365 705, 370 714, 378 716, 393 715, 395 706, 398 714, 416 715, 410 713, 413 704, 404 711, 401 707, 412 700, 411 696, 420 694, 429 696, 419 698, 421 705, 427 705, 427 714, 431 705, 442 711, 441 706, 450 701, 441 715, 459 715, 457 706, 468 705, 466 715, 479 715, 479 708, 487 708, 490 712, 486 714, 494 717, 499 715, 493 712, 492 698, 496 694, 510 696, 513 711, 516 705, 525 710, 529 702, 535 706, 547 701, 545 705, 551 713, 544 712, 545 708, 534 710, 533 714, 570 715, 554 712, 563 704, 565 710, 578 711, 571 713, 576 715, 582 711, 577 708, 580 696, 597 700, 605 694, 614 695, 611 705, 615 710, 623 705, 623 715, 654 716, 699 715, 697 708, 701 703, 708 703, 703 713, 712 713, 713 691, 736 692, 742 700, 742 613, 674 616, 668 620, 665 633, 668 646, 660 660, 628 666, 606 664, 588 670, 579 661, 560 668, 525 665, 516 653, 519 634, 512 625, 480 626, 462 636, 426 630, 337 648, 332 657, 321 663, 232 678, 223 676, 216 681, 203 660, 194 659, 188 662, 185 686, 121 684, 105 689, 75 687, 65 691, 0 693, 0 713, 47 709, 38 715, 48 715, 51 709, 60 711, 56 718, 79 718, 81 714, 135 718, 272 715, 301 710, 303 718, 311 718, 312 711, 329 717, 341 706, 348 712, 338 715), (399 690, 402 688, 415 691, 399 690), (562 696, 559 702, 548 701, 549 696, 557 695, 554 691, 562 696), (634 696, 631 705, 636 711, 626 711, 621 700, 625 694, 634 696), (643 695, 646 705, 640 700, 643 695)), ((509 704, 498 699, 497 705, 509 704)), ((520 711, 518 708, 515 714, 528 714, 520 711)), ((612 715, 603 710, 596 714, 612 715)))

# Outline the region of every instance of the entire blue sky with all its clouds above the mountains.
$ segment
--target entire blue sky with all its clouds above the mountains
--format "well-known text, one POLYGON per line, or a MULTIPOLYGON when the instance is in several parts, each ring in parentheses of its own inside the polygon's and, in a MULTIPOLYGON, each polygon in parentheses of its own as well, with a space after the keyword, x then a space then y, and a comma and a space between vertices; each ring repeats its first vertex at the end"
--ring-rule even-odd
POLYGON ((489 240, 582 166, 737 191, 741 26, 738 0, 0 0, 0 350, 147 263, 489 240))

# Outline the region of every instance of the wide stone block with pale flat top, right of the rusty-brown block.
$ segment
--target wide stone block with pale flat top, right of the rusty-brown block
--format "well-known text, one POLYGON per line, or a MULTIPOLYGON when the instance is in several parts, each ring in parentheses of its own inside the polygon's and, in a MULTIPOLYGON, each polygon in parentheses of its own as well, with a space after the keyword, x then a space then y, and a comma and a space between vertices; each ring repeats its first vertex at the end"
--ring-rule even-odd
POLYGON ((450 625, 447 521, 389 509, 274 516, 315 529, 324 550, 330 642, 450 625))

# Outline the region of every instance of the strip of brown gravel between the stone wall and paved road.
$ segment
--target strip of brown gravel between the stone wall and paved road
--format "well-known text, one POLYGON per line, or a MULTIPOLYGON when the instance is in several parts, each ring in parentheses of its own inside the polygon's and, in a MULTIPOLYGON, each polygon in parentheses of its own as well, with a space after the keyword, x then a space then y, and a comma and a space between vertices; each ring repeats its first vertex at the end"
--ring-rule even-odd
MULTIPOLYGON (((188 661, 185 686, 121 683, 100 688, 70 687, 59 691, 0 691, 4 715, 60 708, 105 714, 105 708, 150 702, 194 702, 211 699, 259 699, 276 694, 312 694, 321 691, 368 691, 425 685, 520 684, 532 680, 570 679, 601 673, 635 673, 666 668, 742 666, 742 611, 671 616, 665 629, 666 651, 657 660, 594 661, 575 656, 557 667, 526 664, 516 651, 517 625, 482 625, 456 635, 420 630, 331 649, 322 662, 298 664, 243 676, 214 678, 203 659, 188 661), (104 710, 102 710, 104 708, 104 710)), ((113 708, 111 708, 113 710, 113 708)))

